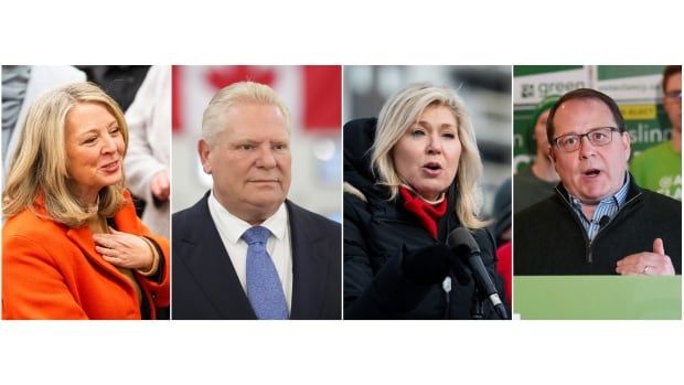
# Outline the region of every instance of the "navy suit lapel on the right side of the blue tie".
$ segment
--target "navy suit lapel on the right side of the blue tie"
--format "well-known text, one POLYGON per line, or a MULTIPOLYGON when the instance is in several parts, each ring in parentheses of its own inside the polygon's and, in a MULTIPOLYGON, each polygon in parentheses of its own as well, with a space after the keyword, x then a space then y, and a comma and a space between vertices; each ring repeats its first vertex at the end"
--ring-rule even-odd
POLYGON ((325 238, 298 213, 298 207, 286 201, 292 237, 292 310, 290 319, 318 319, 325 296, 328 264, 323 257, 325 238))

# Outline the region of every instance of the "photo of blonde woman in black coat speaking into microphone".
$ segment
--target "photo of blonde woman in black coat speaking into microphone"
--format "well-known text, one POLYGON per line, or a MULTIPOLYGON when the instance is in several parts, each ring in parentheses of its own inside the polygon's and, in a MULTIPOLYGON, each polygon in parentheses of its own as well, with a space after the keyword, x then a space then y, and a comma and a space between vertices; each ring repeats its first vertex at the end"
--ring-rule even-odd
POLYGON ((344 66, 344 319, 507 319, 511 67, 344 66))

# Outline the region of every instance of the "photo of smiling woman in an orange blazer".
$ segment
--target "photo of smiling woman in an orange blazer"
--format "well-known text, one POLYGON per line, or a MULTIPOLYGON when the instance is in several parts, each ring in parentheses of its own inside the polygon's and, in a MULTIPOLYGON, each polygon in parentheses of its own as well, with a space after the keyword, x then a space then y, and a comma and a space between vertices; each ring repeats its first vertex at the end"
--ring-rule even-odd
POLYGON ((2 66, 2 318, 169 319, 171 66, 2 66))

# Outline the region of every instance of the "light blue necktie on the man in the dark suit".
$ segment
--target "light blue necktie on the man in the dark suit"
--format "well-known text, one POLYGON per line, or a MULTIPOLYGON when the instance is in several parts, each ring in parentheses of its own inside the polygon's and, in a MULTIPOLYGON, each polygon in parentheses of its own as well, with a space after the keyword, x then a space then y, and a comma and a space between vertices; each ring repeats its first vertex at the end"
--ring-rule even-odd
POLYGON ((259 320, 287 320, 287 301, 282 285, 266 242, 270 232, 254 226, 243 234, 247 245, 247 298, 259 320))

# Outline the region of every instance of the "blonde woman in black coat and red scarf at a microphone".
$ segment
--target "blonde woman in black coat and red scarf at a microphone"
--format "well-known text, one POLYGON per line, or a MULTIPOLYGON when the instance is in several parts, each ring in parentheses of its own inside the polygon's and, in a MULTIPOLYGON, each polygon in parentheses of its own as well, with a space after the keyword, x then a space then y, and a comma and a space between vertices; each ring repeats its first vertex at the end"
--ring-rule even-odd
POLYGON ((496 318, 446 245, 455 228, 471 229, 501 289, 494 240, 477 216, 481 172, 451 89, 406 87, 377 119, 344 126, 345 319, 496 318))

